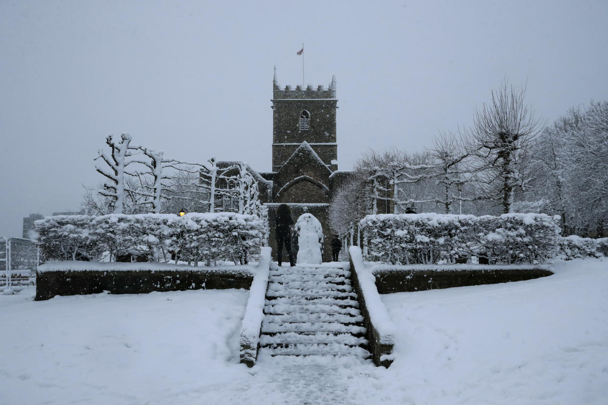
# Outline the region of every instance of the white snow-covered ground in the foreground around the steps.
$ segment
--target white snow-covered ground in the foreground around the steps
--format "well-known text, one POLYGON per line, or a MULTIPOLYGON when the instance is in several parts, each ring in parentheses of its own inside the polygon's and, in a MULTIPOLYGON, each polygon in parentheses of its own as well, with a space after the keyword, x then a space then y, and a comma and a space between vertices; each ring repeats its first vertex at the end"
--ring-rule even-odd
POLYGON ((0 297, 0 404, 606 404, 608 259, 550 277, 382 296, 389 369, 238 362, 243 290, 0 297))

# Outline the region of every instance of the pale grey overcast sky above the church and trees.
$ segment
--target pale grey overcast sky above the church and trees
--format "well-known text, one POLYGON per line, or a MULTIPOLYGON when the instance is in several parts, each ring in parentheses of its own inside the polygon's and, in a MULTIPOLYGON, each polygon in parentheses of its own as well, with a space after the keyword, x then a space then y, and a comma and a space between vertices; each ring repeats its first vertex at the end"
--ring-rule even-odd
POLYGON ((271 169, 278 81, 337 78, 339 168, 469 126, 504 77, 548 122, 608 98, 608 1, 0 0, 0 236, 78 209, 106 135, 271 169), (372 5, 373 4, 373 5, 372 5))

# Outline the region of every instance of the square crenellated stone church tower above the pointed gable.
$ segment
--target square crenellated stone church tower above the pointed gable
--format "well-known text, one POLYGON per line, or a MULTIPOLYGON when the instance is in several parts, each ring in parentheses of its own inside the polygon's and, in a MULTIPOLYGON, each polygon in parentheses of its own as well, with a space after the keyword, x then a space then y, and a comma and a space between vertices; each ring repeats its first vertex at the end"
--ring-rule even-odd
POLYGON ((281 89, 277 83, 277 69, 272 80, 272 171, 285 165, 304 141, 313 149, 323 164, 336 171, 336 77, 328 89, 311 84, 302 89, 291 86, 281 89))

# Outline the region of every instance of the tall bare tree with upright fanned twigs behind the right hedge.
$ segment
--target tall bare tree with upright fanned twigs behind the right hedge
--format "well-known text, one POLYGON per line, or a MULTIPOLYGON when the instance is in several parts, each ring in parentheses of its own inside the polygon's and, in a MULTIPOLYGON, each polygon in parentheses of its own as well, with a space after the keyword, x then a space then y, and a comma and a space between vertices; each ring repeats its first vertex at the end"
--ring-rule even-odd
POLYGON ((541 121, 524 103, 525 87, 517 90, 505 80, 492 90, 492 101, 475 109, 468 149, 477 158, 477 179, 488 197, 513 212, 516 189, 531 177, 525 172, 528 152, 540 132, 541 121))

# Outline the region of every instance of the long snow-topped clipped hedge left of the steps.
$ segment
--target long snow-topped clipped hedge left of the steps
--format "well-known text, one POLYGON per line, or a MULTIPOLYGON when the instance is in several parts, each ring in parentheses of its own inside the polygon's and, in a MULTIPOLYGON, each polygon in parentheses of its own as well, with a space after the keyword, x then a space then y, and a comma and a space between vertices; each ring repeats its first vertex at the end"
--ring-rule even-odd
POLYGON ((149 261, 240 259, 257 254, 263 221, 236 213, 54 216, 35 222, 44 260, 99 260, 135 253, 149 261))

